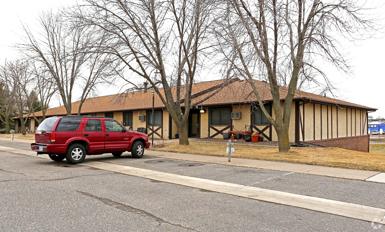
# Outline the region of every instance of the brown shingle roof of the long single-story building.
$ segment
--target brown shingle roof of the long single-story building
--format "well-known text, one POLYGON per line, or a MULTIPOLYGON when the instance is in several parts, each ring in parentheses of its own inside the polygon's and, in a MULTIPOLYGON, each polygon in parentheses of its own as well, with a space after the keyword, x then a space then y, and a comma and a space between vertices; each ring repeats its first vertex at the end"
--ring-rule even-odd
MULTIPOLYGON (((254 81, 255 86, 259 89, 259 94, 264 101, 272 101, 272 96, 270 92, 269 83, 263 81, 254 81)), ((198 101, 199 99, 203 99, 208 96, 209 89, 223 84, 223 80, 217 81, 207 81, 207 82, 199 82, 193 85, 192 94, 200 94, 193 98, 193 102, 198 101), (203 92, 202 91, 206 91, 203 92)), ((163 89, 159 89, 163 92, 163 89)), ((152 108, 152 93, 151 89, 148 91, 136 91, 129 92, 125 94, 113 94, 108 96, 101 96, 95 98, 88 98, 84 101, 81 113, 97 113, 97 112, 109 112, 109 111, 126 111, 126 110, 136 110, 136 109, 150 109, 152 108)), ((172 91, 174 94, 176 93, 176 88, 172 87, 172 91)), ((285 99, 286 94, 288 92, 288 88, 280 87, 280 98, 285 99)), ((164 93, 164 92, 163 92, 164 93)), ((162 94, 164 96, 164 94, 162 94)), ((181 99, 184 98, 184 91, 181 90, 181 99)), ((341 101, 338 99, 328 98, 324 96, 320 96, 317 94, 311 94, 304 91, 295 91, 294 99, 306 99, 313 102, 324 102, 337 104, 340 106, 348 106, 353 108, 362 108, 367 110, 376 110, 374 108, 369 108, 367 106, 361 106, 358 104, 349 103, 346 101, 341 101)), ((255 102, 257 101, 256 97, 253 94, 253 89, 247 81, 234 81, 230 84, 225 84, 221 91, 207 99, 201 105, 218 105, 218 104, 232 104, 232 103, 247 103, 247 102, 255 102)), ((183 103, 181 103, 183 105, 183 103)), ((155 95, 154 100, 155 108, 164 107, 161 99, 155 95)), ((72 114, 77 114, 79 108, 79 101, 72 103, 72 114)), ((66 111, 64 106, 59 106, 56 108, 48 109, 46 112, 46 116, 54 116, 54 115, 65 115, 66 111)), ((35 116, 42 116, 42 112, 39 111, 35 113, 35 116)))

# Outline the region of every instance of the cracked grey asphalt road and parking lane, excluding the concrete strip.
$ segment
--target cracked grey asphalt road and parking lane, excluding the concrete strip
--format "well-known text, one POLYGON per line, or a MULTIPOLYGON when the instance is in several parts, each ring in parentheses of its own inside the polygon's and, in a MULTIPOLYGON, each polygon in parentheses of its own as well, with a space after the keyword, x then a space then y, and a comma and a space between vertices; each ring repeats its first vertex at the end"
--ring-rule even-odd
MULTIPOLYGON (((0 141, 0 146, 30 149, 26 143, 8 141, 0 141)), ((383 183, 147 156, 105 154, 86 159, 385 208, 383 183)), ((39 157, 0 151, 0 160, 2 231, 385 229, 363 220, 39 157)))

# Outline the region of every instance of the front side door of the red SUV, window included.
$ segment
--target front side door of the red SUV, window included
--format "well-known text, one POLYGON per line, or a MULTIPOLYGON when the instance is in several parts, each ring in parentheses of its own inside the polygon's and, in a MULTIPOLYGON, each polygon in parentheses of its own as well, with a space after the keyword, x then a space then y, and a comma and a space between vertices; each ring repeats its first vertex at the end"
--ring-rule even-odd
POLYGON ((130 145, 130 133, 121 126, 115 119, 104 119, 105 136, 104 149, 105 150, 124 150, 128 149, 130 145))

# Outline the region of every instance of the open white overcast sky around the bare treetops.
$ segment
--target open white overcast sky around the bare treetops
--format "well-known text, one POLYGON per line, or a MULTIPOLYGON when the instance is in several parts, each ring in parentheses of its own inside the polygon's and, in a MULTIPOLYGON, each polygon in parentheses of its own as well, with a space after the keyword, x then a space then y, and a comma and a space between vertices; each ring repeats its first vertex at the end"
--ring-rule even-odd
MULTIPOLYGON (((17 58, 18 52, 11 46, 20 41, 19 34, 21 22, 27 22, 30 27, 36 23, 39 12, 57 8, 61 5, 73 5, 75 0, 18 0, 3 1, 2 13, 0 14, 0 61, 4 59, 17 58)), ((385 20, 383 22, 385 27, 385 20)), ((378 35, 377 37, 380 37, 378 35)), ((352 76, 344 76, 340 72, 328 72, 329 78, 338 83, 342 89, 342 100, 361 104, 378 111, 370 115, 385 118, 385 37, 381 39, 368 39, 360 42, 359 46, 350 46, 346 52, 354 67, 352 76)), ((116 87, 103 88, 99 90, 99 96, 117 93, 116 87)), ((77 96, 76 96, 77 97, 77 96)), ((59 106, 59 101, 54 100, 51 107, 59 106)))

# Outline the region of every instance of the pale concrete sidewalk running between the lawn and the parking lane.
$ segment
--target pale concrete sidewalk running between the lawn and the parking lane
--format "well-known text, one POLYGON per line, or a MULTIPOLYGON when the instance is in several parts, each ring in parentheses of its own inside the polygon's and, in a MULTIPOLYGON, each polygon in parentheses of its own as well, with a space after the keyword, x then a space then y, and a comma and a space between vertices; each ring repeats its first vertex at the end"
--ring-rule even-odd
MULTIPOLYGON (((1 144, 1 140, 11 141, 11 138, 0 137, 0 144, 1 144)), ((33 140, 16 139, 16 138, 13 139, 13 141, 22 142, 22 143, 33 142, 33 140)), ((243 166, 248 168, 290 171, 290 172, 306 173, 306 174, 312 174, 312 175, 321 175, 321 176, 328 176, 328 177, 337 177, 337 178, 346 178, 346 179, 352 179, 352 180, 365 180, 365 181, 385 183, 385 173, 381 173, 379 171, 364 171, 364 170, 355 170, 355 169, 346 169, 346 168, 332 168, 332 167, 317 166, 317 165, 285 163, 285 162, 266 161, 266 160, 251 160, 251 159, 241 159, 241 158, 231 158, 231 162, 228 162, 227 157, 221 157, 221 156, 192 155, 192 154, 163 152, 163 151, 149 151, 149 150, 145 151, 145 155, 152 156, 152 157, 159 157, 159 158, 174 159, 174 160, 187 160, 187 161, 216 163, 216 164, 231 165, 231 166, 243 166)))

